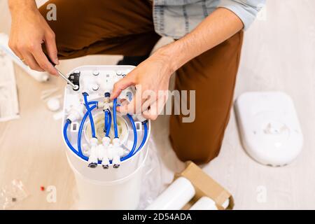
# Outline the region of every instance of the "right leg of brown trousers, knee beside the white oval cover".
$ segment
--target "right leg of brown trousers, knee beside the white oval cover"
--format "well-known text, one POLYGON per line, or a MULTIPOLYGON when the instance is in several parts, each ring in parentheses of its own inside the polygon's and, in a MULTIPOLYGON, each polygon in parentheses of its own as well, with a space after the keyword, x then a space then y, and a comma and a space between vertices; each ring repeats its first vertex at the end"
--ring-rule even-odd
POLYGON ((207 163, 220 152, 230 118, 242 41, 240 31, 176 72, 175 90, 195 90, 195 121, 183 123, 183 115, 170 118, 169 139, 183 162, 207 163))

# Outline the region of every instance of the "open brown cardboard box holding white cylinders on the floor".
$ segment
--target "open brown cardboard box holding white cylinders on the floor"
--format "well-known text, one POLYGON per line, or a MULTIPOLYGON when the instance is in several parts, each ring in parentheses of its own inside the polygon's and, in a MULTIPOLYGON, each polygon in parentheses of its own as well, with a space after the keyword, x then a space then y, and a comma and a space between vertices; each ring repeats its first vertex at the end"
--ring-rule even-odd
POLYGON ((185 207, 183 207, 183 210, 189 209, 193 204, 195 204, 195 202, 197 202, 197 200, 200 199, 200 197, 203 196, 210 197, 214 200, 219 210, 224 210, 222 204, 229 199, 230 204, 227 209, 233 209, 234 200, 228 190, 225 190, 225 188, 214 181, 214 179, 211 179, 211 177, 203 172, 200 167, 195 165, 195 163, 187 162, 186 169, 181 172, 181 174, 175 174, 175 179, 180 176, 188 179, 193 184, 196 191, 195 197, 193 197, 193 199, 190 200, 185 207))

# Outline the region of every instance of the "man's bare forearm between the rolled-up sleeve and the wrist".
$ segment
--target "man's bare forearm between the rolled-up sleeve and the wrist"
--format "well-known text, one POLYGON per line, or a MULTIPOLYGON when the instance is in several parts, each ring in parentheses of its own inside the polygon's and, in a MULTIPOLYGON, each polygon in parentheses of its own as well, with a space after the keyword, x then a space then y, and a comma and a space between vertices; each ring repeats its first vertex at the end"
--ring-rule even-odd
POLYGON ((214 48, 236 34, 243 29, 243 26, 235 13, 225 8, 218 8, 190 34, 160 48, 160 53, 168 58, 170 69, 176 71, 190 59, 214 48))

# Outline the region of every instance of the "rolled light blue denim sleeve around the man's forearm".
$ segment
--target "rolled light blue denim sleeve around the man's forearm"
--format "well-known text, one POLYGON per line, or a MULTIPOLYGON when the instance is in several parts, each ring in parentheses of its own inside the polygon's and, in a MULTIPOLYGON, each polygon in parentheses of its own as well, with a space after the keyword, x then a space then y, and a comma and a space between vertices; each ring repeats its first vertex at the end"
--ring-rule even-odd
POLYGON ((221 0, 218 7, 231 10, 241 19, 244 29, 248 29, 265 2, 266 0, 221 0))

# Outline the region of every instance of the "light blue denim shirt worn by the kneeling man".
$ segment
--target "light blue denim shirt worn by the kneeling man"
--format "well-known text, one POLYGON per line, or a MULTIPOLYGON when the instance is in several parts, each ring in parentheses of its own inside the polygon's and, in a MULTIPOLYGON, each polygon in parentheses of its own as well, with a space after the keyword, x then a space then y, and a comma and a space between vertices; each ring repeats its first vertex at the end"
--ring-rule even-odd
POLYGON ((154 0, 155 31, 161 36, 181 38, 192 31, 216 8, 228 8, 247 29, 266 0, 154 0))

